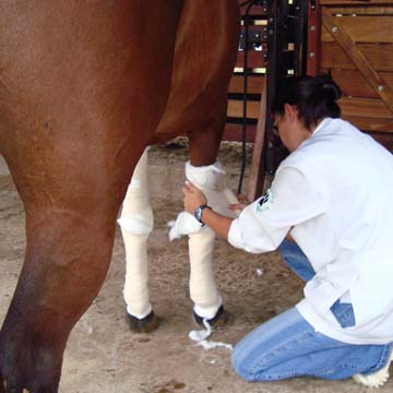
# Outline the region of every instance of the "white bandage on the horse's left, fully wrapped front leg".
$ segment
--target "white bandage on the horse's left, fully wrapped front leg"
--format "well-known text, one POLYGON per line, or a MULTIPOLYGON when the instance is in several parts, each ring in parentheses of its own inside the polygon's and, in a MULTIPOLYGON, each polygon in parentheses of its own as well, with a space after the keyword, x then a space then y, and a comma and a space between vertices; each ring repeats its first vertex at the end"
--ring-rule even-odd
POLYGON ((127 311, 142 319, 152 311, 147 288, 146 241, 153 229, 147 187, 147 150, 138 163, 118 221, 126 248, 124 300, 127 311))

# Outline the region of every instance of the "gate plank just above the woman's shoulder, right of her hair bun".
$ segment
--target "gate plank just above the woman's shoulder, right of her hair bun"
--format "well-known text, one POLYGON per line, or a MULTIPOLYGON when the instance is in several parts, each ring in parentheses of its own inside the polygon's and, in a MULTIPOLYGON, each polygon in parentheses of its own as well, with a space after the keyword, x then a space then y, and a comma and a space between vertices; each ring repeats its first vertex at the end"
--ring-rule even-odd
POLYGON ((343 116, 393 119, 393 114, 381 99, 343 97, 338 100, 343 116))

